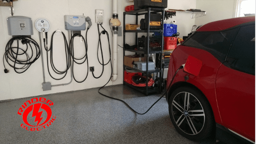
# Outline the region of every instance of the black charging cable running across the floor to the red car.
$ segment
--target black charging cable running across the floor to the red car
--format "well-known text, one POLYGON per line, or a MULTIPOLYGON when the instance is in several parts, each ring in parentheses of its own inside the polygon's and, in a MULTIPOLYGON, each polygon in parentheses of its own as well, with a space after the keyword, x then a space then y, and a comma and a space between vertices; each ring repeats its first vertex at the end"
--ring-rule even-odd
MULTIPOLYGON (((108 98, 111 98, 111 99, 114 99, 114 100, 119 100, 119 101, 121 101, 122 103, 124 103, 127 107, 129 107, 129 108, 131 109, 131 111, 134 111, 136 114, 143 115, 143 114, 146 114, 162 97, 165 96, 165 94, 170 90, 170 87, 171 87, 171 85, 172 85, 172 82, 173 82, 173 80, 174 80, 176 74, 178 73, 178 71, 179 71, 180 69, 183 69, 184 67, 185 67, 185 64, 182 64, 182 65, 179 67, 179 69, 178 69, 178 70, 175 72, 175 74, 173 75, 172 81, 171 81, 171 83, 169 84, 168 89, 165 91, 165 93, 164 93, 158 100, 155 101, 154 104, 152 104, 151 107, 148 108, 148 110, 147 110, 145 113, 139 113, 139 112, 135 111, 135 110, 134 110, 133 108, 131 108, 131 107, 129 106, 129 104, 127 104, 124 100, 120 100, 120 99, 117 99, 117 98, 114 98, 114 97, 109 97, 109 96, 107 96, 107 95, 105 95, 105 94, 102 94, 102 93, 100 92, 100 90, 101 90, 103 87, 105 87, 105 86, 108 84, 108 82, 111 80, 111 77, 109 78, 107 84, 105 84, 103 87, 99 88, 98 93, 101 94, 101 95, 103 95, 103 96, 105 96, 105 97, 108 97, 108 98)), ((112 64, 111 64, 111 74, 112 74, 112 64)))

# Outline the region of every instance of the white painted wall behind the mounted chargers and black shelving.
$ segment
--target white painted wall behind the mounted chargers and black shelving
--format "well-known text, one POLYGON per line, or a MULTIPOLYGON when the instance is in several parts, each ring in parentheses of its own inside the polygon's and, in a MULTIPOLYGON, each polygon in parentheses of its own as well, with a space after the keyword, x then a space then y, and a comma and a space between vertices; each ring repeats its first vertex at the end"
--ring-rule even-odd
MULTIPOLYGON (((119 20, 123 22, 123 12, 125 7, 131 5, 126 0, 118 0, 118 14, 119 20)), ((168 9, 190 9, 195 8, 196 0, 168 0, 168 9)), ((64 28, 64 15, 82 15, 84 13, 85 17, 90 17, 92 21, 91 29, 88 31, 88 58, 89 67, 94 66, 95 75, 99 76, 101 74, 101 65, 98 64, 97 60, 97 45, 98 45, 98 30, 94 19, 95 9, 104 10, 104 23, 103 27, 108 31, 111 36, 111 30, 108 25, 108 20, 112 17, 112 0, 44 0, 38 2, 37 0, 18 0, 13 2, 14 16, 26 16, 30 17, 34 23, 39 18, 47 19, 51 24, 51 29, 48 31, 48 44, 50 44, 51 35, 55 30, 61 30, 65 33, 67 37, 67 30, 64 28)), ((192 25, 195 23, 195 19, 191 19, 191 16, 186 13, 177 13, 177 16, 166 20, 165 23, 170 23, 171 20, 177 20, 178 32, 180 36, 186 36, 190 33, 192 25)), ((0 7, 0 56, 3 57, 4 48, 12 36, 8 35, 7 30, 7 17, 10 17, 9 7, 0 7)), ((135 23, 135 18, 128 17, 126 19, 127 23, 135 23)), ((86 23, 88 26, 88 23, 86 23)), ((123 24, 121 24, 123 28, 123 24)), ((85 36, 85 31, 81 34, 85 36)), ((38 31, 34 27, 34 35, 32 38, 39 43, 38 31)), ((133 35, 127 37, 132 39, 133 35)), ((75 38, 77 41, 75 52, 77 56, 81 56, 84 52, 84 47, 80 43, 79 38, 75 38), (81 47, 79 47, 81 46, 81 47)), ((123 45, 123 38, 118 37, 118 44, 123 45)), ((130 40, 130 43, 135 43, 135 40, 130 40)), ((102 45, 104 51, 104 61, 107 61, 108 57, 108 42, 106 36, 102 36, 102 45)), ((112 37, 110 37, 110 45, 112 50, 112 37)), ((61 36, 54 36, 54 64, 60 70, 64 70, 64 44, 63 38, 61 36)), ((44 53, 44 68, 46 82, 51 82, 54 84, 63 84, 70 81, 70 70, 67 76, 63 80, 53 80, 47 72, 47 60, 46 51, 44 53)), ((110 82, 108 85, 122 84, 123 81, 123 50, 118 47, 118 79, 115 82, 110 82)), ((31 65, 31 67, 23 74, 17 74, 6 62, 6 67, 10 70, 10 73, 4 73, 3 62, 0 62, 0 100, 9 100, 22 97, 31 97, 44 94, 54 94, 59 92, 73 91, 73 90, 83 90, 93 87, 103 86, 110 77, 111 68, 107 65, 104 70, 104 74, 99 79, 94 79, 92 74, 89 72, 87 80, 83 83, 77 83, 74 80, 71 84, 67 86, 52 87, 52 90, 43 91, 43 72, 41 57, 31 65)), ((74 74, 78 80, 82 80, 86 75, 87 65, 75 66, 74 74)), ((57 77, 56 75, 54 75, 57 77)))

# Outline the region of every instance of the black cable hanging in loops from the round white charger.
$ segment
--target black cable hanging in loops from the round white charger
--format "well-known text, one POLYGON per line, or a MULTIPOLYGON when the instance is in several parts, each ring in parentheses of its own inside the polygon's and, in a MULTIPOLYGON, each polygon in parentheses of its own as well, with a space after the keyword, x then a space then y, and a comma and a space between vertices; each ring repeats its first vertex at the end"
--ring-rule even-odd
POLYGON ((53 32, 53 34, 51 35, 51 46, 50 46, 50 49, 48 50, 48 47, 47 47, 47 32, 45 33, 46 34, 46 41, 44 42, 44 49, 46 50, 46 56, 47 56, 47 68, 48 68, 48 73, 50 74, 50 76, 54 79, 54 80, 61 80, 63 79, 66 75, 67 75, 67 71, 68 69, 70 68, 71 66, 71 57, 70 55, 68 54, 68 43, 67 43, 67 38, 65 36, 65 34, 63 32, 62 35, 63 35, 63 39, 64 39, 64 44, 65 44, 65 53, 66 53, 66 69, 61 71, 61 70, 57 70, 57 68, 55 67, 54 65, 54 62, 53 62, 53 42, 54 42, 54 33, 56 33, 56 31, 53 32), (63 77, 61 78, 56 78, 56 77, 53 77, 50 70, 49 70, 49 62, 48 62, 48 52, 50 51, 50 64, 51 64, 51 68, 52 70, 54 71, 54 73, 56 74, 59 74, 59 75, 63 75, 63 77))

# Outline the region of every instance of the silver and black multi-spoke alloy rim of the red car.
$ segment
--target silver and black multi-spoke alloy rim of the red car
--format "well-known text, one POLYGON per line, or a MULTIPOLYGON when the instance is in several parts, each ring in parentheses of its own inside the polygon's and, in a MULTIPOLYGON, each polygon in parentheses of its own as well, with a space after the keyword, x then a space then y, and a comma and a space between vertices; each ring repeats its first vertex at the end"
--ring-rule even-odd
POLYGON ((172 116, 183 132, 198 134, 205 124, 205 113, 200 101, 189 92, 180 92, 172 100, 172 116))

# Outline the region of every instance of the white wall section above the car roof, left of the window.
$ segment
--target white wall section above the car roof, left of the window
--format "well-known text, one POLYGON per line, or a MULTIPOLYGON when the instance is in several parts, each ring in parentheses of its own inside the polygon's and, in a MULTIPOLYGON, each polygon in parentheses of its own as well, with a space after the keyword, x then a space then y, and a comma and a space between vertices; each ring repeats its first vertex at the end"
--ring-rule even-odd
POLYGON ((236 0, 196 0, 196 9, 206 11, 206 16, 195 18, 195 25, 234 17, 236 0))

